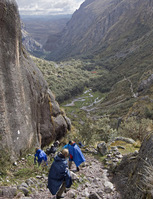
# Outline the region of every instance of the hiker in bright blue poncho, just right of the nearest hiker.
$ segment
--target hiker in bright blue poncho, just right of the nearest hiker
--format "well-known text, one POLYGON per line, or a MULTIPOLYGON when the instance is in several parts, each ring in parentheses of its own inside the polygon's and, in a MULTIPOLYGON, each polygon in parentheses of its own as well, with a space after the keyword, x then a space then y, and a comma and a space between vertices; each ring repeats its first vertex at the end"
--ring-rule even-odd
POLYGON ((80 150, 79 146, 73 141, 69 141, 68 150, 69 150, 69 155, 70 155, 69 156, 69 169, 71 169, 72 161, 74 161, 76 165, 76 169, 77 171, 79 171, 79 165, 82 162, 86 161, 82 151, 80 150))

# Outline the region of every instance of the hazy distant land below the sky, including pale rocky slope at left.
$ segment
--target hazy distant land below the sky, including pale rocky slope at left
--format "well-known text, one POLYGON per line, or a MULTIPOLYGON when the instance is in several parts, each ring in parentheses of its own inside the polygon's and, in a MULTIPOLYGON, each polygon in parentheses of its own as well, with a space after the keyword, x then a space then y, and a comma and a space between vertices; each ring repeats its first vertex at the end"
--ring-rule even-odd
POLYGON ((22 43, 26 50, 36 57, 44 56, 46 50, 43 44, 49 35, 62 31, 70 17, 71 15, 21 16, 22 43))

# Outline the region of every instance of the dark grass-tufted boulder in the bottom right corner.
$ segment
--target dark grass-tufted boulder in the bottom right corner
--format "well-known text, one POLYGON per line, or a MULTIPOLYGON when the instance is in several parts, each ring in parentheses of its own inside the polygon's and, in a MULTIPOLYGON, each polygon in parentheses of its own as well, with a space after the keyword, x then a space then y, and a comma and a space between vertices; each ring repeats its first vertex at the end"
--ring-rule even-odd
POLYGON ((125 156, 114 181, 125 199, 153 198, 153 133, 144 139, 139 153, 125 156))

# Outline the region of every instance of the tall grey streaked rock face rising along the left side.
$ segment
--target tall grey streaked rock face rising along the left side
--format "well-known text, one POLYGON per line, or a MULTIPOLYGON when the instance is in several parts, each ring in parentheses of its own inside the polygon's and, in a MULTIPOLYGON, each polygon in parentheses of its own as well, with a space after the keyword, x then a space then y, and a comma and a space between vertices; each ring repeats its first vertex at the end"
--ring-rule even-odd
POLYGON ((21 44, 18 8, 0 0, 0 150, 17 157, 60 139, 69 124, 21 44))

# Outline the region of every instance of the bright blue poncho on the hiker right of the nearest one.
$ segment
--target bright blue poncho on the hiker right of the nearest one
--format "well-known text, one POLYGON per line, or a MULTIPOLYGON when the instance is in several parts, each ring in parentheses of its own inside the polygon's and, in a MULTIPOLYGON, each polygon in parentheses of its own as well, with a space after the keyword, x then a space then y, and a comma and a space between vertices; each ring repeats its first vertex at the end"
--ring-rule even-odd
POLYGON ((80 148, 78 147, 78 145, 76 143, 74 143, 73 145, 69 146, 69 154, 70 157, 73 157, 73 161, 75 163, 75 165, 78 167, 82 162, 85 162, 85 158, 83 156, 82 151, 80 150, 80 148))

